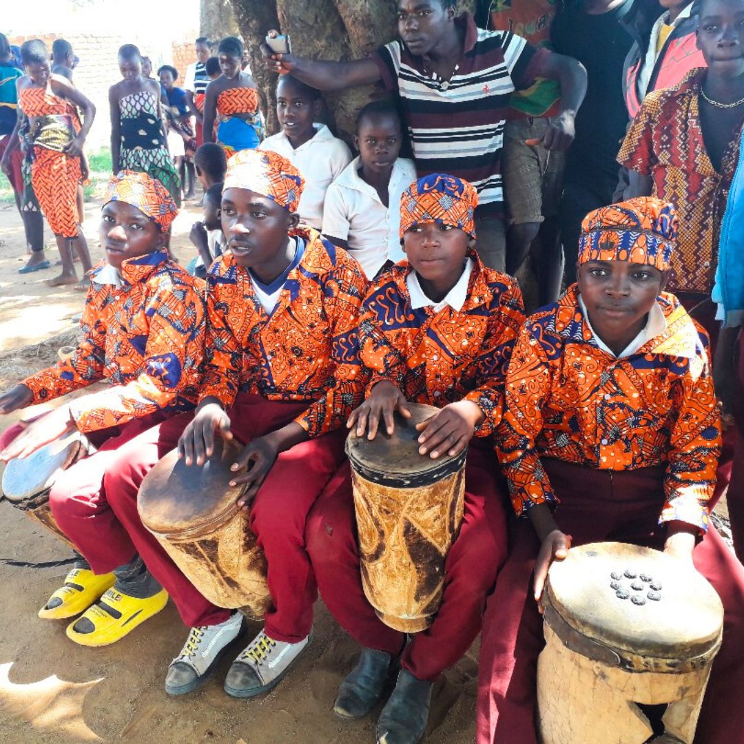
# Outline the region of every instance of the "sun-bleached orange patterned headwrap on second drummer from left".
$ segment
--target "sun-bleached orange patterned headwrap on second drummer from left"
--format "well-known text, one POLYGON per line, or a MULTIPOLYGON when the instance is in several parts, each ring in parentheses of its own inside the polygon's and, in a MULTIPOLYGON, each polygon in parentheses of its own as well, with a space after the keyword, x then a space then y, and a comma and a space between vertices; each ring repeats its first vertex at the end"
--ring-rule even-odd
POLYGON ((240 150, 228 160, 225 189, 245 188, 296 212, 305 185, 300 171, 271 150, 240 150))

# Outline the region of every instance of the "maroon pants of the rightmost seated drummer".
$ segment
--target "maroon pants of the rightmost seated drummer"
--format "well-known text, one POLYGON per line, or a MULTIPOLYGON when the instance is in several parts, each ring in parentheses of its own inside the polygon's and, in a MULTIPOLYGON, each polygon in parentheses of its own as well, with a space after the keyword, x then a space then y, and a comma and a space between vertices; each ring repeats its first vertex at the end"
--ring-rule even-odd
MULTIPOLYGON (((664 469, 591 470, 543 461, 561 503, 556 520, 574 545, 616 540, 661 549, 658 525, 664 504, 664 469)), ((478 744, 536 744, 537 656, 545 641, 532 597, 539 542, 529 520, 514 523, 510 554, 488 599, 481 637, 478 744)), ((698 744, 739 742, 744 731, 744 567, 711 526, 696 546, 697 570, 711 582, 724 607, 723 644, 696 734, 698 744)), ((601 714, 601 711, 598 713, 601 714)))

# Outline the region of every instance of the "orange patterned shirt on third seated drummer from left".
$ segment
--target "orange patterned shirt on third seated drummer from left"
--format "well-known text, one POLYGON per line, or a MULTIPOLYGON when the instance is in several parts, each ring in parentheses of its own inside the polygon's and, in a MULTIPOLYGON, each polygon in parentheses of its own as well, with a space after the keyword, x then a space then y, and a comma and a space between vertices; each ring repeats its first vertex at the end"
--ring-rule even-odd
POLYGON ((369 390, 388 380, 411 403, 443 408, 472 400, 486 417, 476 436, 486 437, 501 422, 507 365, 525 308, 516 281, 475 255, 472 261, 461 310, 414 310, 405 261, 383 273, 362 305, 359 344, 371 371, 369 390))

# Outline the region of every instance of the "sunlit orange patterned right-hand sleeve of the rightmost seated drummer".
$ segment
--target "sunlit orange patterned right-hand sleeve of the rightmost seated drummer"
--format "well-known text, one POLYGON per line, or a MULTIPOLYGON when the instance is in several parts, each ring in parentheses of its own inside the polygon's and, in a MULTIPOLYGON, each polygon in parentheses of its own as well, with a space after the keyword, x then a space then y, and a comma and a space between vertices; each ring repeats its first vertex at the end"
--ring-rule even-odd
POLYGON ((693 360, 679 380, 673 408, 679 411, 670 438, 660 522, 679 520, 708 530, 708 502, 716 487, 721 417, 708 360, 693 360))

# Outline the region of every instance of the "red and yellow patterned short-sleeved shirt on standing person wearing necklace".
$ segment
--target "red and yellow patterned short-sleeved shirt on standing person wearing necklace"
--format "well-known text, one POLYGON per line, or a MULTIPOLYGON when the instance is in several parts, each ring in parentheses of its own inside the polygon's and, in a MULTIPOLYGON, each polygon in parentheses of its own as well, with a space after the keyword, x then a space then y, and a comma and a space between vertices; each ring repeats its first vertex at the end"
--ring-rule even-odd
POLYGON ((679 85, 647 95, 628 130, 618 161, 628 170, 651 176, 653 196, 672 202, 676 210, 679 237, 667 289, 710 295, 716 278, 721 222, 739 159, 740 136, 731 140, 722 172, 716 173, 705 150, 700 124, 699 94, 705 73, 705 69, 697 68, 679 85))

